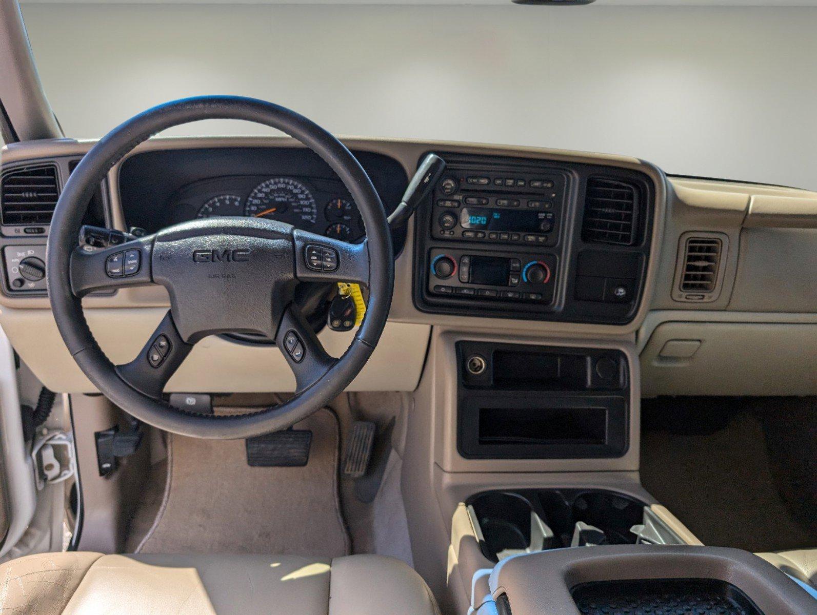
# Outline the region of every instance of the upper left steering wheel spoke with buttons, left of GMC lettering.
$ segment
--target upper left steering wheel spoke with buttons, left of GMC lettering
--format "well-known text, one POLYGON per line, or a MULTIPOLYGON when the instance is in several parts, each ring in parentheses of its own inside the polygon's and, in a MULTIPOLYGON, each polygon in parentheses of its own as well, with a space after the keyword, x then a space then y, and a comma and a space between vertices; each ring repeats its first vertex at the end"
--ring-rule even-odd
POLYGON ((75 247, 71 253, 71 291, 75 296, 153 283, 153 236, 102 250, 75 247))

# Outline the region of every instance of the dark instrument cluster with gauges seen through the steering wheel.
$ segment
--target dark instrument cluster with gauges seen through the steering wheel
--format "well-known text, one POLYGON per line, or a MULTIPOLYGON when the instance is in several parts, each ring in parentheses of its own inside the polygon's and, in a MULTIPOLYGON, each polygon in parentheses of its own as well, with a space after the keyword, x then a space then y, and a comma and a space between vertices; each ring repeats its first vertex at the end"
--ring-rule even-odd
POLYGON ((297 176, 225 176, 199 180, 171 198, 176 223, 213 216, 264 217, 355 243, 363 219, 340 181, 297 176))

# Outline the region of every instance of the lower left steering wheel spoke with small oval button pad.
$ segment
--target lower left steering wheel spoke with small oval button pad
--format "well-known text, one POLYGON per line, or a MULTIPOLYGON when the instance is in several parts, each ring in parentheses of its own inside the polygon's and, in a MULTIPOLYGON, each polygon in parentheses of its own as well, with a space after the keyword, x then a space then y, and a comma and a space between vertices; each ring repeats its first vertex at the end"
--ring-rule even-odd
POLYGON ((181 339, 172 313, 168 310, 136 359, 117 365, 116 371, 134 389, 154 399, 161 399, 167 381, 192 349, 192 344, 181 339))

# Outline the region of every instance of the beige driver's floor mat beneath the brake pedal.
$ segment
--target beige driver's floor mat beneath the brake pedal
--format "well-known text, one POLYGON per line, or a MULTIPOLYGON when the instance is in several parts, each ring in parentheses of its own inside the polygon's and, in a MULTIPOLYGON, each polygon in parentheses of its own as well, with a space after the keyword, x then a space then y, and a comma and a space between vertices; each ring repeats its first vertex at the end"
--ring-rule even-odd
POLYGON ((169 436, 163 505, 137 552, 348 555, 337 417, 324 408, 295 429, 313 432, 300 468, 250 467, 244 440, 169 436))

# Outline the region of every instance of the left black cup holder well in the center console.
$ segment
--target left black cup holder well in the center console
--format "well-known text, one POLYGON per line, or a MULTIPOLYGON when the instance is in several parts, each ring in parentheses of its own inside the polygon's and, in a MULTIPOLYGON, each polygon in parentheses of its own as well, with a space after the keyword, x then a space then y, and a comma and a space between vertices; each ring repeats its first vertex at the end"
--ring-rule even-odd
POLYGON ((551 548, 553 534, 518 493, 481 493, 470 501, 468 514, 483 554, 494 562, 551 548))

